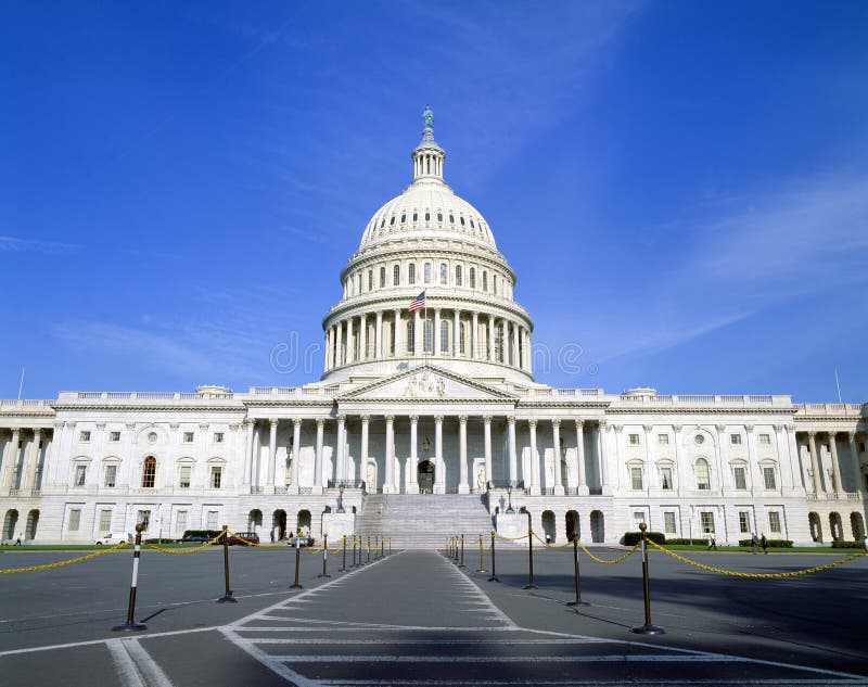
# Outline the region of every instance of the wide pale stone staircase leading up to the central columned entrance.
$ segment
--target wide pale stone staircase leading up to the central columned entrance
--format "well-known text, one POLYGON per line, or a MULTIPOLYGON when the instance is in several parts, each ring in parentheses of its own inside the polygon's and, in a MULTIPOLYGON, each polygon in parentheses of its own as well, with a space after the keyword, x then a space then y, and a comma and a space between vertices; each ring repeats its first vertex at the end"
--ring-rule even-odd
POLYGON ((365 497, 356 534, 379 534, 393 549, 443 548, 450 536, 476 542, 492 531, 492 517, 477 494, 370 494, 365 497))

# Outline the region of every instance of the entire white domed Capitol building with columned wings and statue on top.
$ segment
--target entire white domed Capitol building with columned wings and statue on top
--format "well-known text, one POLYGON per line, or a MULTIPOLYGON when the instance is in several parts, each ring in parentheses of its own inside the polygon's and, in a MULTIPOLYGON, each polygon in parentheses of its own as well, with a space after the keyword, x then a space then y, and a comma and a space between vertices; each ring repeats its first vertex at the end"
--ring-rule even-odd
POLYGON ((412 181, 341 271, 320 381, 0 402, 3 540, 144 521, 427 546, 526 532, 525 513, 554 542, 617 543, 641 521, 718 543, 865 536, 868 404, 536 382, 515 273, 423 120, 412 181))

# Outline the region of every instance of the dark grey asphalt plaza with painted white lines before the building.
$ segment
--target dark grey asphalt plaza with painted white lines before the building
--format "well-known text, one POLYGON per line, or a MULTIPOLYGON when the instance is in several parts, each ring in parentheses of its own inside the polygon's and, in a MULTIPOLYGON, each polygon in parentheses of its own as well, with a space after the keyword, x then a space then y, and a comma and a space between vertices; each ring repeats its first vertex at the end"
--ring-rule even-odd
MULTIPOLYGON (((601 558, 623 551, 595 549, 601 558)), ((290 591, 294 551, 233 548, 222 595, 222 555, 145 549, 136 619, 119 636, 131 554, 0 577, 0 674, 4 685, 868 685, 861 558, 803 577, 742 580, 650 554, 652 614, 665 635, 637 636, 643 619, 640 558, 617 565, 572 549, 500 548, 499 583, 459 570, 442 552, 407 551, 318 578, 302 551, 304 590, 290 591), (805 670, 810 669, 810 670, 805 670), (861 677, 859 677, 861 676, 861 677)), ((744 571, 822 564, 821 555, 690 554, 744 571)), ((0 568, 71 558, 68 551, 0 555, 0 568)), ((348 557, 349 559, 350 557, 348 557)), ((489 569, 488 554, 484 565, 489 569)))

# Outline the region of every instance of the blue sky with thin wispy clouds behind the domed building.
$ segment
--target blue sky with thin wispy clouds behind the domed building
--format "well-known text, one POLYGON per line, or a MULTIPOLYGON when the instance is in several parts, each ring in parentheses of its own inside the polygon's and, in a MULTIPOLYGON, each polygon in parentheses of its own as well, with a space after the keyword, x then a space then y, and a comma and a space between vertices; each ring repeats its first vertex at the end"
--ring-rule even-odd
POLYGON ((868 400, 868 3, 7 2, 0 397, 299 384, 411 176, 519 275, 538 379, 868 400))

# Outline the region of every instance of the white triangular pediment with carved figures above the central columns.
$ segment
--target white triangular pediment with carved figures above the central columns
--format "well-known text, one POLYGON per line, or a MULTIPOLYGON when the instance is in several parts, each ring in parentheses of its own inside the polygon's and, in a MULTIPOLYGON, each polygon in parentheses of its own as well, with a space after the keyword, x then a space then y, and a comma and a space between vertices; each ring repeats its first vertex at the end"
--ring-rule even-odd
POLYGON ((455 372, 420 366, 356 389, 341 399, 514 400, 515 396, 455 372))

